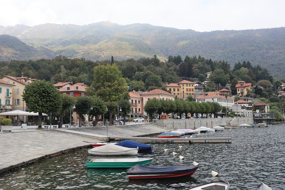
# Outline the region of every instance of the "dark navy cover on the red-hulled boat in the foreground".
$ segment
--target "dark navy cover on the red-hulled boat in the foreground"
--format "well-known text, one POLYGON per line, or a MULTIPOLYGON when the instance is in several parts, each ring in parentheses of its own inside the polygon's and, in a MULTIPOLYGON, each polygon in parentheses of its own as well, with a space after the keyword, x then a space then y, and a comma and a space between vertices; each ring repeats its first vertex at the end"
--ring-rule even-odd
POLYGON ((198 165, 193 166, 148 166, 137 164, 127 171, 128 175, 146 174, 185 174, 198 169, 198 165))

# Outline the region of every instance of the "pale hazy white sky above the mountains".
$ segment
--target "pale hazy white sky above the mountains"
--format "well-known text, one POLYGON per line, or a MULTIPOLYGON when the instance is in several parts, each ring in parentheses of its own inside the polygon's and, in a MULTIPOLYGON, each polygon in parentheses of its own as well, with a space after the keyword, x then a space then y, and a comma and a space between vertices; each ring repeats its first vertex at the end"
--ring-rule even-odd
POLYGON ((0 25, 148 23, 196 31, 285 26, 285 0, 0 0, 0 25))

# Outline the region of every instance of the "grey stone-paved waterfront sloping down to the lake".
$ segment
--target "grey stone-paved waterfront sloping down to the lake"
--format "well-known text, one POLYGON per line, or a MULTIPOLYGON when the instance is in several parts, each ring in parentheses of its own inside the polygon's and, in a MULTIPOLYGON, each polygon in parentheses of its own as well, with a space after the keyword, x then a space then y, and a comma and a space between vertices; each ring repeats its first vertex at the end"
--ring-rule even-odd
MULTIPOLYGON (((0 173, 42 158, 90 147, 92 143, 101 142, 100 139, 79 136, 80 133, 102 137, 106 136, 106 129, 106 127, 92 127, 36 130, 30 127, 27 130, 13 128, 12 132, 0 132, 0 173)), ((129 125, 109 126, 108 136, 118 134, 137 136, 165 131, 157 126, 147 125, 145 122, 139 124, 131 122, 129 125)))

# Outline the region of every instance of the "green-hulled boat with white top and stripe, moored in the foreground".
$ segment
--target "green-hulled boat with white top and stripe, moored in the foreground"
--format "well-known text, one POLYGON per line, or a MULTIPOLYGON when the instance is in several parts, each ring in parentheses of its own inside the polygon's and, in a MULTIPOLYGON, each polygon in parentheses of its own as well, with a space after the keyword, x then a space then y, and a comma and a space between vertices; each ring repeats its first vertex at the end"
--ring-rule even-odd
POLYGON ((100 158, 86 162, 87 168, 131 168, 137 164, 149 165, 153 158, 100 158))

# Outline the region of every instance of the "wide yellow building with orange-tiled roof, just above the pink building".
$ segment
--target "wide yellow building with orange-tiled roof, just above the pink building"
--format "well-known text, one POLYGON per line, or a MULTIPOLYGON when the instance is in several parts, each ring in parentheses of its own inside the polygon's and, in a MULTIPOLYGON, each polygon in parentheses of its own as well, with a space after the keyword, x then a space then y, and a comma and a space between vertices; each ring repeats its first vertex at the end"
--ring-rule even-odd
POLYGON ((177 98, 186 99, 189 95, 192 97, 195 96, 195 82, 183 80, 178 83, 170 83, 164 88, 171 91, 171 94, 175 95, 177 98))

